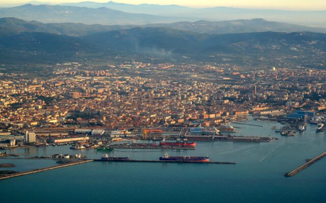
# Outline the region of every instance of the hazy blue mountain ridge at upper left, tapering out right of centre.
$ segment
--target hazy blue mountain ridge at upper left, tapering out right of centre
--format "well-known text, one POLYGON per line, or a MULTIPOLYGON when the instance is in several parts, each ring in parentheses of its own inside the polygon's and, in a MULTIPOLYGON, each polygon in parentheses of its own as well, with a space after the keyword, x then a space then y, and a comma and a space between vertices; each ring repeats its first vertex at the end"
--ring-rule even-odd
POLYGON ((16 17, 42 22, 78 22, 85 24, 148 24, 169 23, 194 18, 156 16, 125 13, 106 7, 86 8, 74 6, 52 6, 26 4, 12 8, 0 8, 0 17, 16 17))

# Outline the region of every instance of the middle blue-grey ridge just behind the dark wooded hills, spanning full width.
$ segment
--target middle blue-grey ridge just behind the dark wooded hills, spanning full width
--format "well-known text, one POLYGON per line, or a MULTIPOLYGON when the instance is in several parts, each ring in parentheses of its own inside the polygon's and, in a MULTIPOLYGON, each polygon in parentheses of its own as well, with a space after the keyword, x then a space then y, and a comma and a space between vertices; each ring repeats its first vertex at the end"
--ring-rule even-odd
POLYGON ((144 26, 104 26, 101 24, 87 25, 83 23, 42 23, 38 21, 25 21, 18 18, 0 18, 0 33, 17 32, 44 32, 68 36, 84 36, 94 33, 127 30, 136 27, 143 28, 171 28, 203 34, 228 34, 252 32, 318 32, 325 33, 326 28, 297 26, 282 22, 266 21, 264 19, 230 20, 230 21, 195 21, 175 22, 162 24, 146 24, 144 26))

